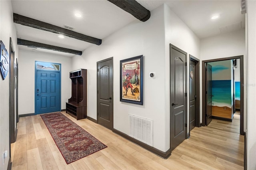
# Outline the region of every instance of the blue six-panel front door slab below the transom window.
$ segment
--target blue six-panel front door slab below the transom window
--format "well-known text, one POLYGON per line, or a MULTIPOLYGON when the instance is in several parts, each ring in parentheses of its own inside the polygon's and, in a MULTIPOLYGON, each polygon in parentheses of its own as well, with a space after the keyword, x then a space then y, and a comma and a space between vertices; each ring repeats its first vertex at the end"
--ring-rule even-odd
POLYGON ((36 114, 60 111, 60 72, 36 71, 36 114))

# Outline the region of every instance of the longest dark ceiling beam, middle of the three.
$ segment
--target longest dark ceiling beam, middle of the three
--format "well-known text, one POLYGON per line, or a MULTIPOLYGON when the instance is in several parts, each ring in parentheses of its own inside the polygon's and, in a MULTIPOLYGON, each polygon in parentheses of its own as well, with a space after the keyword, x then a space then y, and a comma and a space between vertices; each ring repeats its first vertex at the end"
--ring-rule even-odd
POLYGON ((42 21, 39 21, 39 20, 28 18, 26 16, 22 16, 22 15, 15 14, 15 13, 13 13, 13 22, 16 23, 16 24, 22 24, 24 26, 29 26, 29 27, 32 27, 32 28, 37 28, 39 30, 53 32, 53 33, 56 33, 56 34, 62 34, 64 36, 68 36, 68 37, 71 37, 71 38, 75 38, 77 40, 82 40, 82 41, 85 41, 85 42, 93 43, 93 44, 96 44, 96 45, 100 45, 101 42, 102 42, 102 40, 100 40, 98 38, 86 36, 84 34, 80 34, 78 32, 74 32, 72 30, 68 30, 68 29, 65 29, 65 28, 54 26, 52 24, 48 24, 46 22, 42 22, 42 21))

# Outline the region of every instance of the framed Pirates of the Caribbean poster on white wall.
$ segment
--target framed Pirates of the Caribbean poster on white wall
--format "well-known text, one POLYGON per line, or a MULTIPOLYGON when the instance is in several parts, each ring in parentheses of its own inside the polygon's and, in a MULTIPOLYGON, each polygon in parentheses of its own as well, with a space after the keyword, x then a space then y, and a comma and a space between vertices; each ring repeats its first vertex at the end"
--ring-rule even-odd
POLYGON ((143 105, 143 55, 120 61, 120 101, 143 105))

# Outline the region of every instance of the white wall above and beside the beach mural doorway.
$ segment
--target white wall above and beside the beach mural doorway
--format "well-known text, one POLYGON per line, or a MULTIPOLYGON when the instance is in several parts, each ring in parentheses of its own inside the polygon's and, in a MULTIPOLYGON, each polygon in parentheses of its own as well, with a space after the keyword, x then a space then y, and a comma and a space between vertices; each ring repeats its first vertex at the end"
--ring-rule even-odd
MULTIPOLYGON (((200 42, 200 70, 202 70, 202 61, 204 60, 244 55, 243 77, 246 82, 245 44, 245 29, 202 39, 200 42)), ((200 77, 202 77, 202 71, 200 71, 200 77)), ((202 84, 202 78, 200 84, 202 84)), ((202 91, 202 87, 200 87, 200 91, 202 91)), ((246 87, 244 87, 244 92, 246 92, 246 87)), ((246 104, 246 93, 244 93, 244 104, 246 104)), ((202 100, 200 100, 200 105, 202 106, 202 100)), ((200 113, 202 115, 202 107, 200 113)), ((244 110, 244 117, 246 117, 246 110, 244 110)), ((200 119, 202 122, 202 117, 200 119)), ((244 125, 246 125, 246 119, 244 119, 244 125)), ((246 126, 244 126, 244 130, 245 128, 246 126)))

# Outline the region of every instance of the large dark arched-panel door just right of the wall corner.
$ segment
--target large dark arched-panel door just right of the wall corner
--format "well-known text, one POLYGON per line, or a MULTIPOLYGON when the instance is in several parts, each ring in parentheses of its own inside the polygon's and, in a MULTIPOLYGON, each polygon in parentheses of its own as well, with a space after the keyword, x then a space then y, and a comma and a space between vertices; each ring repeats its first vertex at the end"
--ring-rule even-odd
POLYGON ((172 150, 186 139, 186 58, 186 52, 170 45, 170 143, 172 150))

